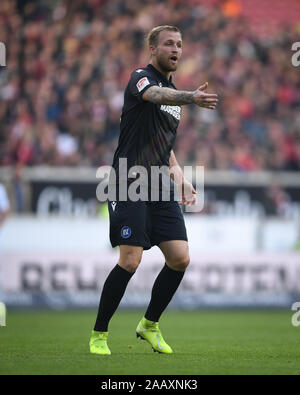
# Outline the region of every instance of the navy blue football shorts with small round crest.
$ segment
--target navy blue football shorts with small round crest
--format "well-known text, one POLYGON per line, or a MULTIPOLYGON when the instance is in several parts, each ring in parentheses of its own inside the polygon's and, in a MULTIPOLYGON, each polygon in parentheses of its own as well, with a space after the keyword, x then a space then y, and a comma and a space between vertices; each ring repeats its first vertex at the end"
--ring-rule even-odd
POLYGON ((188 240, 177 201, 109 201, 112 247, 134 245, 149 250, 162 241, 188 240))

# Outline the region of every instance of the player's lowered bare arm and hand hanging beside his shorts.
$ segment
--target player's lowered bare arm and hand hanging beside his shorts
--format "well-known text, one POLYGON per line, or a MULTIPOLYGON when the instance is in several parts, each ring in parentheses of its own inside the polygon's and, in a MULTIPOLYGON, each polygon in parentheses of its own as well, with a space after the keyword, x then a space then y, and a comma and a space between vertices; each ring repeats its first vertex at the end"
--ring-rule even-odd
POLYGON ((190 205, 196 203, 196 191, 193 185, 184 177, 183 171, 179 166, 174 151, 171 151, 169 159, 170 176, 176 183, 178 192, 181 196, 180 204, 190 205))

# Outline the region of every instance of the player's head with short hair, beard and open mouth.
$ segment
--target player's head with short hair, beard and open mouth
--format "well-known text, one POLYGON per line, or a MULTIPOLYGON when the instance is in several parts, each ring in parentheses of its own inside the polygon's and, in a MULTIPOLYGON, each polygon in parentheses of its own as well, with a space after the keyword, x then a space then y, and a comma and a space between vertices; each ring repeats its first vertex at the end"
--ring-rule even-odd
POLYGON ((181 34, 163 30, 159 33, 157 46, 150 46, 150 51, 163 71, 176 71, 182 54, 181 34))

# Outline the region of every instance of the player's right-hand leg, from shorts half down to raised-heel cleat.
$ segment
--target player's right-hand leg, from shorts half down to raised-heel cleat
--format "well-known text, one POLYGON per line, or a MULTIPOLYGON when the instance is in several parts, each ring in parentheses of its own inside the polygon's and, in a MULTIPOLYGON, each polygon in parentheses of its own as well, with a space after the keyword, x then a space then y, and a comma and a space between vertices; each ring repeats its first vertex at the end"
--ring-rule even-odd
POLYGON ((158 321, 189 264, 189 248, 184 218, 177 202, 153 203, 151 221, 151 245, 159 246, 166 263, 153 284, 149 306, 136 332, 152 345, 154 351, 170 354, 172 349, 164 341, 158 321))

